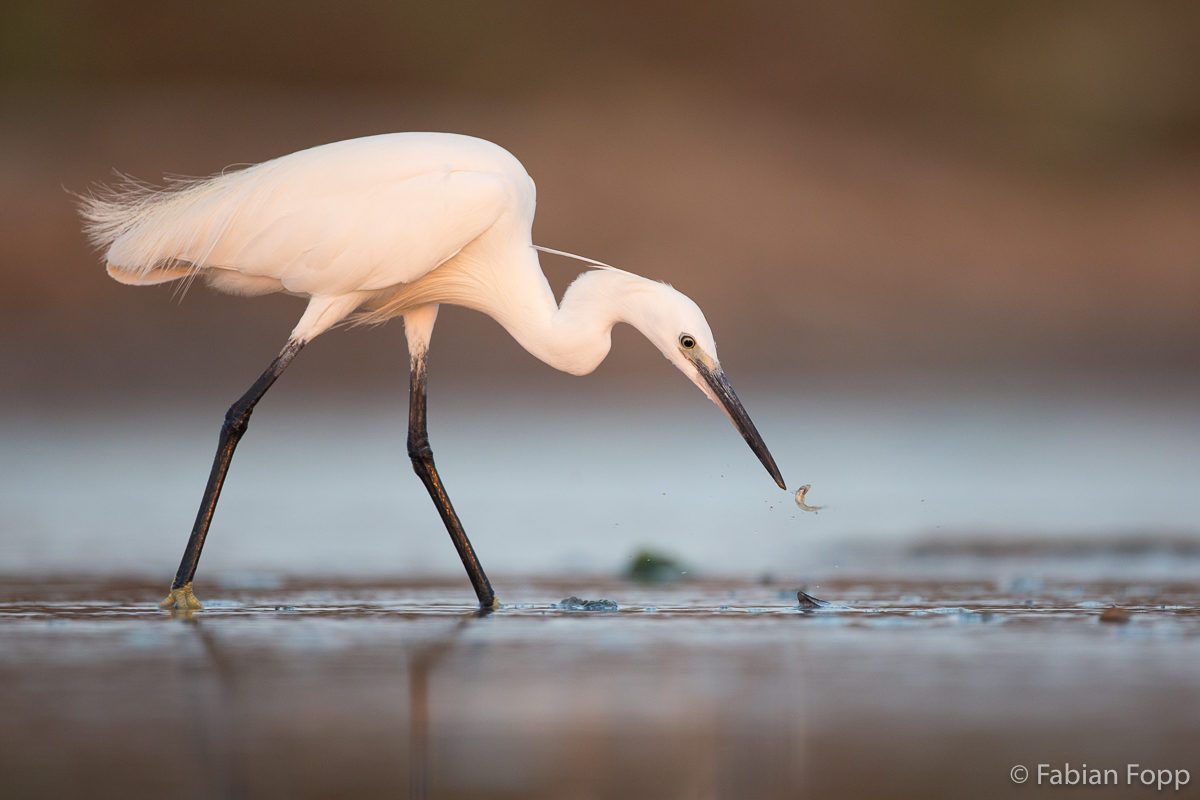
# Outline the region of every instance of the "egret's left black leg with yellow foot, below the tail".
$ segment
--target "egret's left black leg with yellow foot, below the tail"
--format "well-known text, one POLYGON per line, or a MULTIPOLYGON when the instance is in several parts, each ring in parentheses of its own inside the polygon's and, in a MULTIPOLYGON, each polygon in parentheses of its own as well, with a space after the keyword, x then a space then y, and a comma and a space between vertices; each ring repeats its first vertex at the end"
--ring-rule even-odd
POLYGON ((212 523, 212 512, 217 507, 217 499, 221 497, 221 487, 224 485, 226 473, 229 471, 229 462, 233 459, 233 451, 238 447, 238 441, 246 433, 250 425, 250 415, 254 410, 258 401, 271 387, 304 347, 299 339, 289 339, 283 350, 275 357, 271 366, 266 368, 254 385, 250 387, 236 403, 226 411, 224 425, 221 426, 221 439, 217 444, 217 455, 212 459, 212 471, 209 473, 209 483, 204 487, 204 498, 200 500, 200 510, 196 515, 196 524, 192 525, 192 535, 187 540, 187 548, 184 551, 184 559, 179 563, 179 572, 170 584, 170 595, 162 601, 163 607, 175 608, 200 608, 200 602, 192 594, 192 578, 196 576, 196 565, 200 560, 200 549, 204 547, 204 539, 209 535, 209 525, 212 523))

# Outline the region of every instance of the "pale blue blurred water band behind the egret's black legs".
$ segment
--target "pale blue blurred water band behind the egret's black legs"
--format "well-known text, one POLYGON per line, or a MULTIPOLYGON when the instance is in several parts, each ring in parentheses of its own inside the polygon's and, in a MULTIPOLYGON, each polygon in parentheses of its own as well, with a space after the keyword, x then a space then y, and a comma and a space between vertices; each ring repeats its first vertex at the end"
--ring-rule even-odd
MULTIPOLYGON (((646 546, 706 577, 814 576, 857 571, 858 545, 931 536, 1165 536, 1200 555, 1194 386, 821 393, 816 383, 748 386, 743 401, 792 492, 810 483, 820 513, 800 511, 682 379, 664 396, 434 385, 430 435, 493 577, 611 576, 646 546)), ((406 402, 268 397, 200 573, 457 577, 404 451, 406 402)), ((0 575, 173 573, 224 409, 0 414, 0 575)), ((890 555, 866 573, 890 569, 890 555)), ((1198 575, 1195 558, 1092 566, 1117 578, 1198 575)))

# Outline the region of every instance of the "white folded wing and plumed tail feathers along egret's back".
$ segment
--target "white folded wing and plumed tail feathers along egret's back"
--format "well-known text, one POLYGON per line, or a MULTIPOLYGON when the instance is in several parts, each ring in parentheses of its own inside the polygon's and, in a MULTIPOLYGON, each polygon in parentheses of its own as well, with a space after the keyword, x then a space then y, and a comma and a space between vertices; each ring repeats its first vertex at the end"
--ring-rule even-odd
POLYGON ((392 133, 166 190, 122 186, 85 200, 83 216, 113 277, 127 283, 212 270, 214 284, 235 293, 332 295, 410 282, 532 198, 528 175, 502 148, 392 133))

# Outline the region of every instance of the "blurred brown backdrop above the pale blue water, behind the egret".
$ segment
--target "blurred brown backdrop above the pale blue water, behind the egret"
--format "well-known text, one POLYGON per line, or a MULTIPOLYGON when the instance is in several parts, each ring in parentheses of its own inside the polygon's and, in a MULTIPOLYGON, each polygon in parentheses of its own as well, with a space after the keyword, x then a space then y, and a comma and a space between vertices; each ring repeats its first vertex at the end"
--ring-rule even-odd
MULTIPOLYGON (((230 399, 301 309, 116 284, 67 191, 402 130, 512 151, 535 241, 692 296, 736 383, 1200 356, 1194 2, 8 0, 0 84, 6 402, 230 399)), ((548 372, 500 333, 445 312, 434 369, 548 372)), ((401 327, 305 361, 401 389, 401 327)))

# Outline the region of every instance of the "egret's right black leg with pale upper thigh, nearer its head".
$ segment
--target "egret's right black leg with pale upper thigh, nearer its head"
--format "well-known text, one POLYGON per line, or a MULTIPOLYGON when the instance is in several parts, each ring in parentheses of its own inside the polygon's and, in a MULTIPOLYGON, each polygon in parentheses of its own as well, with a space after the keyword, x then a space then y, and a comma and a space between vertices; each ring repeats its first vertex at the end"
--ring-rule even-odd
POLYGON ((404 314, 404 335, 408 337, 409 353, 409 395, 408 395, 408 457, 413 461, 413 471, 425 483, 433 505, 438 507, 442 522, 450 534, 458 558, 467 570, 470 585, 475 589, 481 608, 496 608, 499 602, 492 584, 484 573, 484 567, 475 555, 475 548, 467 539, 458 515, 455 513, 450 504, 450 495, 446 494, 442 477, 437 467, 433 465, 433 450, 430 447, 430 435, 425 426, 425 362, 428 354, 430 336, 433 333, 433 323, 437 320, 438 307, 426 306, 404 314))

